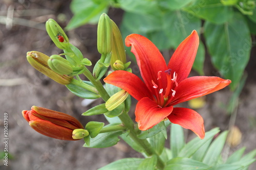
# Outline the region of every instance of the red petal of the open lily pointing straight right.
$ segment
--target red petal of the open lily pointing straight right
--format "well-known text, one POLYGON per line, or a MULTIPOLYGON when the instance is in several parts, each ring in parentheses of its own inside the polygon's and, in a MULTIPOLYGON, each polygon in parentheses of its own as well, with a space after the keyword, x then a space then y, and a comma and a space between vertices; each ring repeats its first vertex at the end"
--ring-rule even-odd
POLYGON ((175 89, 175 97, 170 105, 198 98, 200 96, 218 91, 231 83, 230 80, 224 80, 219 77, 195 76, 189 77, 179 83, 175 89))

